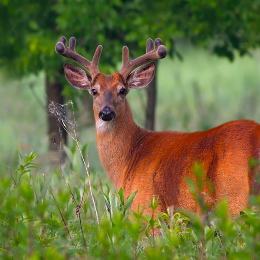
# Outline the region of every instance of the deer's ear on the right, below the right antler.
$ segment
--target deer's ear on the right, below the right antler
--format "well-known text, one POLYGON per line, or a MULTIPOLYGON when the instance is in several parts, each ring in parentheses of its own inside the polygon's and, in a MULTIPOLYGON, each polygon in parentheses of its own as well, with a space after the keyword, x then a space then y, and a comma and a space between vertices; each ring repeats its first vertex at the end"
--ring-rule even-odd
POLYGON ((131 88, 142 88, 147 86, 153 79, 155 73, 156 62, 145 64, 131 73, 127 79, 127 85, 131 88))

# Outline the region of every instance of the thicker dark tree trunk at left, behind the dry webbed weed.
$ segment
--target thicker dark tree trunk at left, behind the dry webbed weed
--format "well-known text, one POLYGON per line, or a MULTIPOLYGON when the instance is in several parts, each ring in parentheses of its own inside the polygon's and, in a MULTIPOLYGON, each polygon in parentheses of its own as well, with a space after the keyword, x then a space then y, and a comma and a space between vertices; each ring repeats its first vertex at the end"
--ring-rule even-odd
POLYGON ((64 97, 61 94, 63 86, 59 80, 58 76, 55 76, 54 79, 46 77, 46 94, 47 94, 47 131, 48 131, 48 142, 51 149, 57 148, 61 144, 66 144, 67 133, 63 130, 62 125, 57 121, 56 117, 48 111, 48 106, 51 101, 54 101, 58 104, 64 103, 64 97), (61 132, 60 132, 61 131, 61 132))

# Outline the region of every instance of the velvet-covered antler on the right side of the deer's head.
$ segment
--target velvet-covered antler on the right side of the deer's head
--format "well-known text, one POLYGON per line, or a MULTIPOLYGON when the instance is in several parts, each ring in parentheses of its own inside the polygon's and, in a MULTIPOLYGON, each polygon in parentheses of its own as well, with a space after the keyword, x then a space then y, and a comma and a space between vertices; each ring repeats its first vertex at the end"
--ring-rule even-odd
POLYGON ((153 47, 153 41, 152 39, 147 40, 146 44, 146 54, 134 59, 129 60, 129 50, 126 46, 123 47, 123 64, 122 69, 119 71, 119 73, 126 79, 128 75, 140 67, 141 65, 154 61, 156 59, 162 59, 165 58, 167 55, 167 49, 164 45, 162 45, 161 39, 157 38, 154 41, 154 49, 153 47))

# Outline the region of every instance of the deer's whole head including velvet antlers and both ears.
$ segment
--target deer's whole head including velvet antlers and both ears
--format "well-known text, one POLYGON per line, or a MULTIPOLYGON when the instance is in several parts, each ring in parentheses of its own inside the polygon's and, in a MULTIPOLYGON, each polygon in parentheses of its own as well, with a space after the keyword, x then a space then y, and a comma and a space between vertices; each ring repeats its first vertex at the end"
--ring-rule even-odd
POLYGON ((87 75, 73 64, 64 63, 68 82, 76 88, 88 90, 93 96, 95 121, 103 125, 124 116, 126 94, 132 88, 147 86, 155 73, 154 60, 167 55, 167 49, 160 39, 154 41, 154 48, 153 41, 148 39, 146 53, 134 60, 129 60, 129 50, 124 46, 121 70, 105 75, 98 68, 102 46, 96 48, 92 61, 89 61, 75 51, 75 45, 74 37, 70 39, 69 47, 66 46, 66 38, 61 37, 55 49, 58 54, 76 61, 89 72, 90 75, 87 75))

